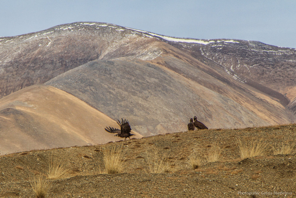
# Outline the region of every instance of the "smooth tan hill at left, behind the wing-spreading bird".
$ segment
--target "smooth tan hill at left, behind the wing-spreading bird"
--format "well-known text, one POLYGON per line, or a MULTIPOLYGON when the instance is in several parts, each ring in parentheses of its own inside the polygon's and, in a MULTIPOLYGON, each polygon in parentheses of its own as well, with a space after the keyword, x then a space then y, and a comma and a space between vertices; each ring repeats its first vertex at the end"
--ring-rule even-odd
POLYGON ((118 127, 107 115, 48 85, 33 85, 0 99, 2 154, 122 140, 107 133, 106 126, 118 127))

